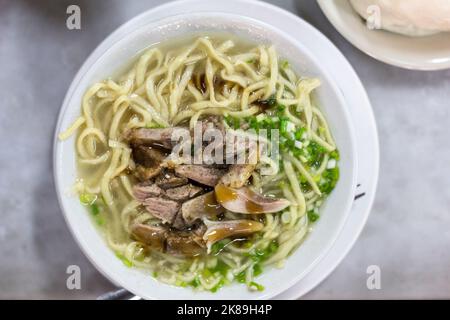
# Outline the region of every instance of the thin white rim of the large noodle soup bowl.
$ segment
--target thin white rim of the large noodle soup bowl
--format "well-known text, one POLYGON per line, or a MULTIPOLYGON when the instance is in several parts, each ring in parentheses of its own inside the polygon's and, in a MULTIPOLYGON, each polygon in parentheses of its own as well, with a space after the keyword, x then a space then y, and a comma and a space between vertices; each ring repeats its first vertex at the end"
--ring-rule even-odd
MULTIPOLYGON (((178 2, 178 1, 177 1, 178 2)), ((176 3, 176 2, 175 2, 176 3)), ((169 3, 169 4, 173 4, 169 3)), ((167 4, 165 4, 167 5, 167 4)), ((162 5, 164 6, 164 5, 162 5)), ((161 6, 161 7, 162 7, 161 6)), ((151 10, 153 10, 155 8, 151 8, 149 10, 147 10, 146 12, 149 12, 151 10)), ((136 32, 139 32, 139 30, 143 29, 143 28, 149 28, 150 26, 160 26, 163 24, 169 24, 170 21, 175 20, 175 19, 180 19, 182 17, 185 18, 189 18, 189 17, 193 17, 196 15, 219 15, 221 17, 233 17, 235 19, 239 19, 241 21, 248 22, 253 21, 256 22, 259 25, 264 25, 264 27, 271 29, 271 31, 274 31, 276 33, 278 33, 278 36, 280 37, 285 37, 286 39, 289 40, 290 43, 292 43, 295 47, 297 47, 299 50, 302 51, 302 53, 304 53, 305 56, 308 56, 309 59, 312 60, 313 64, 316 64, 317 66, 320 66, 320 63, 318 63, 318 61, 315 59, 315 57, 309 52, 308 48, 304 47, 301 43, 299 43, 296 39, 292 38, 289 34, 285 33, 284 31, 270 26, 268 24, 266 24, 263 21, 260 21, 258 19, 255 18, 251 18, 251 17, 247 17, 247 16, 241 16, 238 14, 233 14, 233 13, 226 13, 226 12, 220 12, 220 11, 202 11, 202 12, 192 12, 192 13, 184 13, 184 14, 175 14, 175 15, 170 15, 167 17, 164 17, 162 19, 157 19, 154 21, 149 21, 148 23, 144 23, 142 25, 137 26, 133 31, 131 31, 130 33, 121 35, 119 39, 116 39, 114 41, 112 41, 113 36, 116 35, 120 30, 122 30, 122 28, 124 28, 126 25, 132 24, 133 21, 137 20, 141 15, 144 15, 146 12, 141 13, 140 15, 131 18, 130 20, 128 20, 125 24, 123 24, 122 26, 120 26, 119 28, 117 28, 115 31, 113 31, 110 35, 108 35, 94 50, 93 52, 89 55, 89 57, 84 61, 84 63, 82 64, 82 66, 80 67, 79 71, 77 72, 77 74, 75 75, 68 91, 67 94, 64 98, 62 107, 59 111, 59 115, 58 115, 58 120, 57 120, 57 125, 55 127, 55 133, 54 133, 54 145, 53 145, 53 173, 54 173, 54 180, 55 180, 55 186, 56 186, 56 192, 57 192, 57 196, 58 196, 58 202, 61 208, 61 211, 63 213, 64 219, 69 227, 70 232, 72 233, 75 241, 77 242, 78 246, 80 247, 80 249, 82 250, 82 252, 84 253, 84 255, 90 260, 90 262, 96 267, 97 270, 99 270, 99 272, 101 274, 103 274, 107 279, 109 279, 110 281, 112 281, 113 283, 116 284, 120 284, 121 286, 123 286, 124 288, 129 288, 129 286, 127 286, 126 283, 122 283, 121 281, 119 281, 118 279, 116 279, 112 274, 110 274, 109 272, 107 272, 107 270, 105 270, 105 268, 103 266, 100 266, 100 264, 98 263, 98 259, 96 259, 95 257, 91 256, 91 254, 89 253, 89 251, 85 248, 85 246, 83 245, 83 243, 80 241, 79 236, 76 234, 76 231, 73 226, 73 224, 70 223, 69 218, 68 218, 68 213, 66 210, 66 207, 64 205, 64 199, 63 197, 65 196, 63 194, 63 190, 62 187, 59 184, 59 171, 56 169, 57 167, 57 157, 58 154, 60 154, 59 148, 58 148, 58 143, 59 140, 57 138, 59 132, 60 132, 60 128, 61 128, 61 124, 63 122, 63 119, 65 118, 65 115, 69 109, 69 102, 73 99, 73 95, 75 93, 75 89, 79 86, 80 82, 84 79, 84 77, 86 76, 86 74, 91 70, 91 68, 96 64, 96 62, 100 59, 103 58, 104 55, 108 54, 109 49, 111 49, 112 46, 114 46, 116 43, 125 40, 127 37, 130 37, 131 35, 135 34, 136 32), (109 44, 108 44, 109 42, 109 44), (102 51, 103 47, 106 47, 105 50, 102 51), (95 55, 97 55, 98 57, 96 59, 94 59, 95 55)), ((351 150, 351 155, 350 155, 350 159, 353 162, 353 166, 350 169, 351 172, 351 190, 349 190, 348 194, 348 199, 346 199, 345 203, 346 205, 345 210, 343 210, 345 212, 344 218, 341 219, 342 221, 340 221, 340 225, 339 227, 336 229, 336 234, 333 237, 333 239, 330 241, 329 245, 325 248, 325 250, 323 250, 323 252, 320 253, 320 255, 317 256, 317 258, 312 261, 308 268, 306 268, 305 270, 303 270, 301 273, 299 273, 296 277, 293 277, 293 279, 291 281, 286 282, 286 284, 284 286, 279 286, 277 290, 272 290, 273 292, 271 293, 267 293, 267 294, 263 294, 259 297, 255 298, 271 298, 271 297, 275 297, 276 295, 286 291, 287 289, 291 288, 293 285, 295 285, 295 283, 297 283, 301 278, 303 278, 310 270, 312 270, 317 263, 326 255, 326 253, 330 250, 330 248, 333 246, 334 242, 336 241, 336 238, 338 237, 338 235, 340 234, 343 225, 345 224, 345 222, 348 219, 348 215, 350 213, 350 209, 351 209, 351 205, 352 205, 352 199, 353 195, 355 193, 355 188, 356 188, 356 172, 357 172, 357 156, 356 156, 356 142, 355 142, 355 132, 354 132, 354 128, 353 125, 350 121, 350 115, 349 115, 349 110, 347 109, 346 106, 346 101, 342 95, 342 93, 340 92, 338 86, 336 85, 335 81, 333 80, 333 78, 328 74, 327 71, 323 70, 323 68, 320 68, 321 72, 323 73, 323 77, 324 80, 326 79, 326 82, 328 83, 328 85, 331 87, 331 90, 334 92, 334 94, 338 97, 339 100, 339 105, 343 106, 342 108, 340 108, 340 112, 343 113, 344 118, 345 118, 345 122, 346 122, 346 126, 348 127, 348 130, 350 132, 349 134, 349 149, 351 150)), ((130 290, 132 292, 137 292, 136 289, 134 290, 130 290)), ((154 297, 149 297, 148 294, 139 294, 138 295, 145 297, 145 298, 151 298, 154 299, 154 297)), ((212 298, 217 298, 217 294, 213 294, 212 298)))

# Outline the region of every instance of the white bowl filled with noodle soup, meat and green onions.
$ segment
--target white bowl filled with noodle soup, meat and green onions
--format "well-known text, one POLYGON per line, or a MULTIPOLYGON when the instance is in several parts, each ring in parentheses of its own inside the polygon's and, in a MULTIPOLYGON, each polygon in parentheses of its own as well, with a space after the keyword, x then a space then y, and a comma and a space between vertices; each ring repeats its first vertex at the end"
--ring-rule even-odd
POLYGON ((339 234, 356 186, 348 111, 320 62, 264 22, 215 12, 105 43, 72 83, 54 149, 59 201, 91 262, 147 299, 264 299, 306 275, 339 234), (225 183, 229 166, 198 174, 159 162, 155 176, 141 162, 142 150, 167 149, 167 130, 202 121, 235 135, 276 129, 279 157, 260 155, 239 188, 225 183), (153 134, 158 148, 148 146, 153 134), (178 189, 158 180, 172 172, 184 179, 178 189), (220 212, 183 211, 197 198, 171 195, 187 186, 198 198, 215 193, 220 212))

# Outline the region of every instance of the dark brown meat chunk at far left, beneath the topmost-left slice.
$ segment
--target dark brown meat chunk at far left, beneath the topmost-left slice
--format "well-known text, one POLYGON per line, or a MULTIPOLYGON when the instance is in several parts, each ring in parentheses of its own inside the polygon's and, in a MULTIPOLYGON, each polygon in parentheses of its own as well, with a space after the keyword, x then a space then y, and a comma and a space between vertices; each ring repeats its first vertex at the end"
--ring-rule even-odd
POLYGON ((153 147, 134 146, 133 160, 136 163, 135 175, 141 181, 156 177, 162 171, 161 163, 166 153, 153 147))

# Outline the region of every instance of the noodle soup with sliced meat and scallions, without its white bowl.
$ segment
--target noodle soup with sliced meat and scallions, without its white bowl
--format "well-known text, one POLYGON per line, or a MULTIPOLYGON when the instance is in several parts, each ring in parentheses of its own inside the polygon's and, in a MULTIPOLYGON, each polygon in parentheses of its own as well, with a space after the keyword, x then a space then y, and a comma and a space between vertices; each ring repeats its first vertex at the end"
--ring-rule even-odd
POLYGON ((196 290, 263 290, 258 275, 301 244, 339 178, 319 85, 275 47, 227 35, 150 47, 89 88, 60 135, 77 135, 80 201, 129 267, 196 290), (173 157, 180 130, 220 135, 216 161, 192 161, 208 139, 173 157))

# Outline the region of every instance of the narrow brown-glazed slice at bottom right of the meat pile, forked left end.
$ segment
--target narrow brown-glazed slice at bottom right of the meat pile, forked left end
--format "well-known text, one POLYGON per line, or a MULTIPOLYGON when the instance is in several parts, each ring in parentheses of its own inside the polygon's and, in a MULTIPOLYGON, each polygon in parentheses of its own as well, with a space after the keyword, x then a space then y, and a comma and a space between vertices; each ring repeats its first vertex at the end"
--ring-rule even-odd
POLYGON ((203 240, 206 241, 208 248, 222 239, 248 236, 264 228, 261 222, 254 220, 206 221, 205 223, 208 228, 203 235, 203 240))

